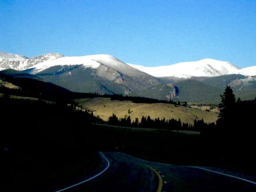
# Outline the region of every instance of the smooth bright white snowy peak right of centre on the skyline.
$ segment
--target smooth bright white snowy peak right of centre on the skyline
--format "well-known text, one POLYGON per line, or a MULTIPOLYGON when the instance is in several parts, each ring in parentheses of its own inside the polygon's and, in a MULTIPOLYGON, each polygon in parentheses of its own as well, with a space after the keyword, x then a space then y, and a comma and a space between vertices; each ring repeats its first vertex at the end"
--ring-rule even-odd
POLYGON ((218 61, 214 59, 203 59, 196 62, 182 62, 158 67, 144 67, 134 64, 129 65, 155 77, 172 76, 178 78, 190 78, 192 76, 220 76, 232 74, 240 69, 238 66, 235 66, 230 62, 218 61))

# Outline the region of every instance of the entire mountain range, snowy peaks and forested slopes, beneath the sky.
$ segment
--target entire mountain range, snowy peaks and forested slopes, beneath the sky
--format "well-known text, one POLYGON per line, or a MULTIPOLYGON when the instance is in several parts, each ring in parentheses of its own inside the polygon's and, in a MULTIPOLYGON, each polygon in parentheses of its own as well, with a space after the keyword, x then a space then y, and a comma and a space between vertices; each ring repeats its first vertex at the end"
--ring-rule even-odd
POLYGON ((67 57, 52 53, 27 58, 0 52, 0 70, 9 68, 74 92, 219 102, 219 95, 230 85, 244 99, 256 96, 256 66, 241 69, 213 59, 144 67, 104 54, 67 57))

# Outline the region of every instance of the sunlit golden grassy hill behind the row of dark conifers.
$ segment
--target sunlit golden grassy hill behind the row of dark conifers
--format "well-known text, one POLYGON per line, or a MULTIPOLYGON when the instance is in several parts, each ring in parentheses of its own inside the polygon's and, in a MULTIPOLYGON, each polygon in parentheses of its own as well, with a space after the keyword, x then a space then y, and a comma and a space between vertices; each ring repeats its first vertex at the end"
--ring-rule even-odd
POLYGON ((111 101, 110 98, 86 98, 78 99, 76 102, 83 106, 84 109, 93 111, 94 115, 100 116, 103 120, 114 113, 118 118, 124 116, 131 117, 132 120, 142 116, 150 116, 151 118, 176 119, 180 118, 181 122, 193 124, 195 119, 204 119, 204 122, 216 122, 218 115, 205 110, 194 109, 184 106, 176 106, 174 104, 137 104, 131 101, 111 101), (130 110, 129 110, 130 109, 130 110))

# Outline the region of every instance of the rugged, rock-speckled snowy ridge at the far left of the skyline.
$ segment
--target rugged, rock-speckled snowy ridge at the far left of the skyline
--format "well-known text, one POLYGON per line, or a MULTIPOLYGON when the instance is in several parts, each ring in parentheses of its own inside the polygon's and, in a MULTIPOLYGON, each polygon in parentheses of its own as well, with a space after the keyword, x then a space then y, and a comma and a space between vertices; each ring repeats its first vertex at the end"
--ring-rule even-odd
POLYGON ((25 56, 15 55, 10 53, 0 52, 0 70, 4 69, 15 69, 15 70, 26 70, 38 63, 55 60, 57 58, 64 57, 58 53, 44 54, 32 58, 26 58, 25 56))

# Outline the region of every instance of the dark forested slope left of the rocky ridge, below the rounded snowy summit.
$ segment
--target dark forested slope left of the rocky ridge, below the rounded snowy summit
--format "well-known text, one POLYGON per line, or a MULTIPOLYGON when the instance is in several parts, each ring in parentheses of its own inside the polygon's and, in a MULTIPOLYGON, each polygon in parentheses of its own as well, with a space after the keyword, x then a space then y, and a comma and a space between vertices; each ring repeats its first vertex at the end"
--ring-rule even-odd
POLYGON ((53 66, 37 75, 47 82, 67 88, 74 92, 90 92, 99 94, 122 94, 129 90, 123 84, 115 84, 110 80, 94 75, 96 70, 84 68, 82 65, 53 66))

